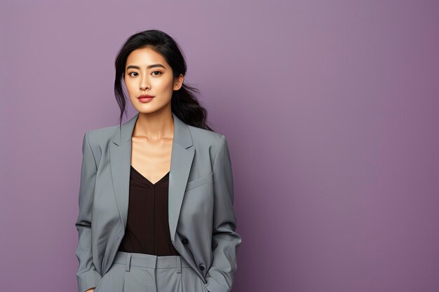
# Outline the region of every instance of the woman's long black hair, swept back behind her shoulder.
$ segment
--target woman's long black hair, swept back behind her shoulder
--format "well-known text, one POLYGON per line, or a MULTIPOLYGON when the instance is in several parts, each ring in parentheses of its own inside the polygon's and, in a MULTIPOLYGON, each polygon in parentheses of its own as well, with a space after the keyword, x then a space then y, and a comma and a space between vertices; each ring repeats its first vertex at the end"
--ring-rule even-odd
MULTIPOLYGON (((122 124, 123 112, 127 115, 127 98, 122 88, 122 80, 125 81, 126 60, 133 50, 144 47, 153 49, 165 58, 166 62, 173 69, 174 81, 180 74, 186 75, 187 65, 182 50, 171 36, 158 29, 149 29, 130 36, 119 50, 114 64, 116 67, 114 95, 121 109, 120 125, 122 124)), ((198 103, 196 97, 198 94, 199 90, 197 88, 183 82, 180 90, 173 91, 171 111, 187 125, 212 131, 206 123, 208 112, 198 103)))

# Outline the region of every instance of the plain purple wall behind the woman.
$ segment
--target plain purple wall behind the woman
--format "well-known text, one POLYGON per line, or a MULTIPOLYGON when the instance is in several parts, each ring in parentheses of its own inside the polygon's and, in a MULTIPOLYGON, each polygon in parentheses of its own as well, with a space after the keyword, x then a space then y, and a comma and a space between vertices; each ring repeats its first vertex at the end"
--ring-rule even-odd
POLYGON ((228 137, 233 291, 439 290, 438 1, 0 11, 0 291, 77 291, 81 139, 117 124, 114 57, 153 28, 180 43, 186 81, 228 137))

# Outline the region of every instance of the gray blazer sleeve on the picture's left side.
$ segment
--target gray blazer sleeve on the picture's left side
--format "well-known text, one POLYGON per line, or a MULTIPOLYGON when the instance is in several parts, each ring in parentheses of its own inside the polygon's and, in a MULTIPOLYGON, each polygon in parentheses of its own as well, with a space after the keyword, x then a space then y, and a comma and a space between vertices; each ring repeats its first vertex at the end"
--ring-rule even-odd
POLYGON ((82 165, 81 183, 79 186, 79 214, 75 226, 78 230, 78 245, 76 247, 76 258, 79 260, 76 279, 79 292, 93 288, 100 281, 102 276, 97 272, 93 264, 91 251, 91 210, 93 204, 93 193, 95 190, 97 166, 93 152, 88 141, 88 131, 84 134, 82 142, 82 165))

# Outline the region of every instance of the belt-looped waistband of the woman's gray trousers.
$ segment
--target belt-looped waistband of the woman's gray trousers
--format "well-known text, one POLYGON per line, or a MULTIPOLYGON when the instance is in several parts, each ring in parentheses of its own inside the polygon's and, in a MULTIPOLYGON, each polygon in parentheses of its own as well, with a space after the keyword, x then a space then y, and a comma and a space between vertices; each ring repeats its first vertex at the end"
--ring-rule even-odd
POLYGON ((128 253, 125 251, 117 251, 114 263, 125 264, 126 271, 129 271, 132 265, 156 269, 176 267, 178 273, 182 272, 182 267, 190 267, 182 256, 155 256, 147 253, 128 253))

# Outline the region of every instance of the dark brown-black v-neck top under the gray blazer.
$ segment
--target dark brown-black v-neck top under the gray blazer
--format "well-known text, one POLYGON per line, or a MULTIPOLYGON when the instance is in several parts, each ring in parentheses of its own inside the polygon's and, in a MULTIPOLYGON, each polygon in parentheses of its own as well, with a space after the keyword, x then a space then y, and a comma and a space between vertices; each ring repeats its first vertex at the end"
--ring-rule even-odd
POLYGON ((151 183, 133 166, 130 169, 128 219, 119 251, 179 256, 169 233, 169 172, 151 183))

